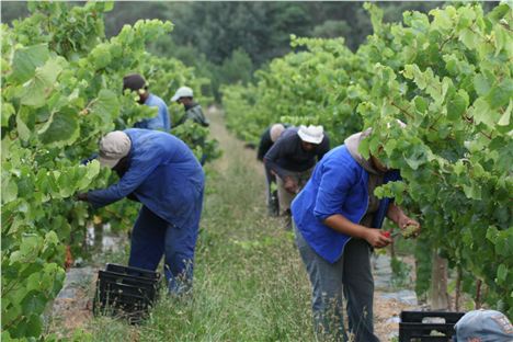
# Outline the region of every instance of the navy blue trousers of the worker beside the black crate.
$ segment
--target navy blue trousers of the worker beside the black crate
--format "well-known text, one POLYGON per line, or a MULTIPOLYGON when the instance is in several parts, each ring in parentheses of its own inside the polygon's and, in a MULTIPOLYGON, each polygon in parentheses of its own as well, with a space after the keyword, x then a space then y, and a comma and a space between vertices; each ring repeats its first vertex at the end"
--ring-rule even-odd
POLYGON ((132 231, 128 265, 156 271, 162 255, 169 292, 192 287, 198 227, 176 227, 142 206, 132 231))

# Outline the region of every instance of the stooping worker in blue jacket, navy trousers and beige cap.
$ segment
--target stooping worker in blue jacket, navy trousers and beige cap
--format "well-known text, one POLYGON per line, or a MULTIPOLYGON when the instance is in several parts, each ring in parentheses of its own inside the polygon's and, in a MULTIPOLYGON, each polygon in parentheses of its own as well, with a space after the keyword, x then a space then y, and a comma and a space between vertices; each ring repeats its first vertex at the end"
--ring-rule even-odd
POLYGON ((128 265, 155 271, 163 254, 170 293, 187 292, 205 183, 191 149, 171 134, 130 128, 104 136, 98 160, 121 179, 107 189, 79 194, 78 200, 95 208, 127 196, 139 201, 128 265))

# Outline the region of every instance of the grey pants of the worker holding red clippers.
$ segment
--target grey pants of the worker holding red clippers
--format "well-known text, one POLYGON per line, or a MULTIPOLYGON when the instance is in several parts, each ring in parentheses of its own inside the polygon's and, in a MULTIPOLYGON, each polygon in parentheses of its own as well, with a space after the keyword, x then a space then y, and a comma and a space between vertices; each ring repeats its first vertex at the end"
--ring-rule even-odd
POLYGON ((379 341, 374 334, 374 278, 371 247, 362 239, 351 239, 342 258, 329 263, 317 254, 295 227, 296 243, 312 287, 316 334, 321 341, 379 341), (343 296, 342 296, 343 293, 343 296), (346 300, 349 334, 343 323, 343 297, 346 300))

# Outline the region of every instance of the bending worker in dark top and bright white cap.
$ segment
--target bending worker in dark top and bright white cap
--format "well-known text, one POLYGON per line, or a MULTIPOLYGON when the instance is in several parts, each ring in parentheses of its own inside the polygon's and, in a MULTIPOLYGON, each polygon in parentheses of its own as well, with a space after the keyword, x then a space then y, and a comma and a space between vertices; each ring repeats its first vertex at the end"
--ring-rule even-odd
POLYGON ((290 127, 264 156, 265 168, 276 174, 281 214, 289 227, 290 203, 303 189, 316 162, 330 150, 322 126, 290 127))

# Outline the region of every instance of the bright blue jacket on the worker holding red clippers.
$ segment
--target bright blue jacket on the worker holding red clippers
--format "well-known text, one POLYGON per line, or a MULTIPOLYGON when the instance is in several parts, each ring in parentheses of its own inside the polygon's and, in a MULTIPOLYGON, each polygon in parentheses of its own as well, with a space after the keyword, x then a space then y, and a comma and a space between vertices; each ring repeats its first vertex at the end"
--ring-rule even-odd
MULTIPOLYGON (((384 183, 399 179, 398 171, 385 174, 384 183)), ((373 228, 380 228, 391 198, 383 198, 374 215, 373 228)), ((294 221, 308 244, 324 260, 337 262, 350 236, 323 224, 340 214, 358 224, 367 212, 368 171, 351 156, 347 148, 339 146, 317 163, 305 189, 292 203, 294 221)))

